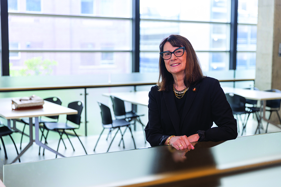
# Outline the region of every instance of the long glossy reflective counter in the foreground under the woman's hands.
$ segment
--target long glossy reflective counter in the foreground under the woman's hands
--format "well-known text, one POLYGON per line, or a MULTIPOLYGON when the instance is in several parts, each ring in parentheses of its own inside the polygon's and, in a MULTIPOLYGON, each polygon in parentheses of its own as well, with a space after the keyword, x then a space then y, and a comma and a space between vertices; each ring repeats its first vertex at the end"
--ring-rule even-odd
POLYGON ((186 153, 162 146, 17 163, 3 166, 3 180, 6 187, 274 186, 280 145, 278 132, 199 142, 186 153))

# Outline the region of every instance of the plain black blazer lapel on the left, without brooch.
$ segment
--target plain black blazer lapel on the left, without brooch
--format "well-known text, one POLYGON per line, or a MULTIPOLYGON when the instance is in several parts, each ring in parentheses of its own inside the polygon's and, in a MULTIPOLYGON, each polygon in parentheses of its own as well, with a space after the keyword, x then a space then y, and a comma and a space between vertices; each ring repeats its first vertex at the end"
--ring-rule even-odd
POLYGON ((175 97, 174 97, 174 91, 171 89, 170 91, 166 92, 163 91, 166 107, 170 116, 170 119, 172 121, 172 124, 175 128, 175 131, 177 136, 180 135, 180 116, 178 114, 178 111, 176 110, 175 105, 175 97))

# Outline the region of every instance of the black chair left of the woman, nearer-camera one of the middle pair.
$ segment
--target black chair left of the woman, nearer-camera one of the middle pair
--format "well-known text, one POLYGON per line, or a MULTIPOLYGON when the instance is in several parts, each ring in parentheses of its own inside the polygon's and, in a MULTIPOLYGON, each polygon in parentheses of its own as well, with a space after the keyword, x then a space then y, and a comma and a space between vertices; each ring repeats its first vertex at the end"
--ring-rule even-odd
MULTIPOLYGON (((112 130, 114 130, 114 129, 117 129, 117 131, 116 131, 116 133, 115 133, 113 139, 111 140, 111 143, 110 143, 110 145, 109 145, 109 147, 107 149, 107 152, 109 151, 109 148, 110 148, 110 146, 111 146, 111 144, 112 144, 116 134, 118 133, 118 131, 120 131, 121 136, 122 136, 121 140, 123 140, 123 134, 124 133, 122 133, 122 131, 120 129, 121 127, 128 127, 130 129, 130 132, 131 132, 131 135, 132 135, 132 139, 133 139, 133 142, 134 142, 134 146, 135 146, 135 149, 136 149, 135 139, 134 139, 133 134, 132 134, 130 122, 126 121, 125 119, 112 120, 110 108, 108 106, 100 103, 100 102, 97 102, 97 103, 98 103, 98 105, 101 108, 101 122, 102 122, 102 127, 103 127, 103 129, 101 131, 101 134, 103 133, 104 129, 109 129, 110 132, 112 130)), ((101 134, 100 134, 100 136, 99 136, 99 138, 98 138, 98 140, 96 142, 96 146, 97 146, 97 144, 98 144, 98 142, 99 142, 99 140, 101 138, 101 134)), ((107 140, 107 138, 106 138, 106 140, 107 140)), ((124 145, 124 140, 123 140, 123 145, 124 145)), ((94 148, 94 151, 96 150, 96 146, 94 148)), ((125 145, 124 145, 124 148, 125 148, 125 145)))

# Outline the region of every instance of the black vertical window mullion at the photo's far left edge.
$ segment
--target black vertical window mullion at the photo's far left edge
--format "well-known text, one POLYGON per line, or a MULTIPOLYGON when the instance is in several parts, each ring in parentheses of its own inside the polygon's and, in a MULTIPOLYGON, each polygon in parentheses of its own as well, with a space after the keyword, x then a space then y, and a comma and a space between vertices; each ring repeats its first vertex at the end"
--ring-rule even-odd
POLYGON ((9 76, 8 1, 1 0, 1 76, 9 76))

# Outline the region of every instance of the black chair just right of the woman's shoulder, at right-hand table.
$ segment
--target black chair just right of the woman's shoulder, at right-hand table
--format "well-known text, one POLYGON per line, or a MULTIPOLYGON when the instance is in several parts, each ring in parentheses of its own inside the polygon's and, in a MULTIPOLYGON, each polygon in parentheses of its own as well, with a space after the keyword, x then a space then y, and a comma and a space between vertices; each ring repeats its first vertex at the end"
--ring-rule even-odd
MULTIPOLYGON (((244 130, 246 129, 247 120, 248 120, 249 114, 250 114, 250 112, 247 111, 246 107, 245 107, 246 99, 242 96, 239 96, 239 95, 236 95, 233 93, 226 93, 225 96, 232 109, 233 115, 236 115, 237 118, 238 118, 238 116, 240 116, 240 120, 242 122, 242 127, 243 127, 242 133, 241 133, 241 136, 242 136, 244 130), (245 114, 244 120, 241 117, 242 114, 245 114), (247 114, 248 114, 248 117, 246 119, 247 114)), ((237 121, 237 124, 238 124, 238 121, 237 121)), ((238 132, 239 132, 239 125, 237 125, 237 126, 238 126, 238 132)))

